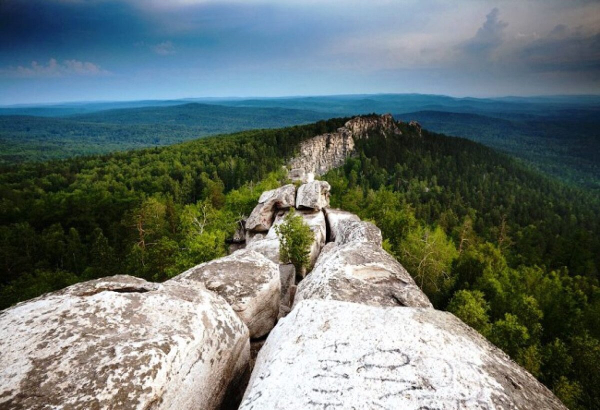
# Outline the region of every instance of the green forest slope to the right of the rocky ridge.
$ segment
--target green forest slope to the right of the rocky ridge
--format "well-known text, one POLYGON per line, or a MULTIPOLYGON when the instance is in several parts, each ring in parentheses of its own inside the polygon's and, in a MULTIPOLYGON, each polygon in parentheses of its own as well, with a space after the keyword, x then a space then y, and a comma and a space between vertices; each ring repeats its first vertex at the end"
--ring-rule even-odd
POLYGON ((323 176, 332 207, 373 220, 434 306, 571 408, 598 408, 600 201, 468 140, 401 130, 323 176))

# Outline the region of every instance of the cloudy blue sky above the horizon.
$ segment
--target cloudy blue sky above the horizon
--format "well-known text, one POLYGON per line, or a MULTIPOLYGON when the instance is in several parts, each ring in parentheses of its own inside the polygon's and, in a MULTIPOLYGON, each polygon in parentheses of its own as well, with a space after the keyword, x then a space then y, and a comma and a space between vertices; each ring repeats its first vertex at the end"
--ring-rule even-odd
POLYGON ((0 104, 600 94, 595 0, 0 0, 0 104))

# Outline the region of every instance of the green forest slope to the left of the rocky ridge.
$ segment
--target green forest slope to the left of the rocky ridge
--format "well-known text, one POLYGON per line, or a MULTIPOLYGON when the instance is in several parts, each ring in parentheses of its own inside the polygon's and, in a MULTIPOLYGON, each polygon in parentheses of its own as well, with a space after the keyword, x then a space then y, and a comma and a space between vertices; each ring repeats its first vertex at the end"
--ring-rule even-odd
POLYGON ((0 308, 113 274, 165 280, 225 255, 301 140, 344 119, 0 172, 0 308))

